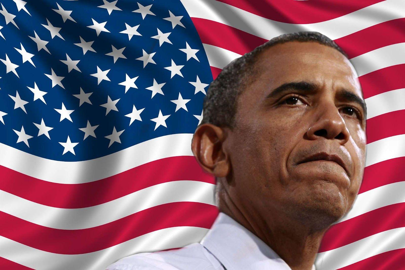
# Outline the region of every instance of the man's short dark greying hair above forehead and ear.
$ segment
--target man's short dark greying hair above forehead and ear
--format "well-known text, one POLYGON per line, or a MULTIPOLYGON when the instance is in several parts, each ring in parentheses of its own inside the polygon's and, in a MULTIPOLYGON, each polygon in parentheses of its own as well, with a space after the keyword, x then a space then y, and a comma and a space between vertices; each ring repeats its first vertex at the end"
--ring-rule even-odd
POLYGON ((237 99, 249 83, 249 79, 253 77, 253 65, 256 56, 269 47, 288 41, 315 41, 337 49, 348 58, 347 54, 335 41, 319 32, 295 32, 277 36, 256 47, 253 51, 234 59, 222 69, 221 73, 211 82, 208 88, 207 96, 203 103, 203 120, 200 124, 210 123, 233 129, 237 99))

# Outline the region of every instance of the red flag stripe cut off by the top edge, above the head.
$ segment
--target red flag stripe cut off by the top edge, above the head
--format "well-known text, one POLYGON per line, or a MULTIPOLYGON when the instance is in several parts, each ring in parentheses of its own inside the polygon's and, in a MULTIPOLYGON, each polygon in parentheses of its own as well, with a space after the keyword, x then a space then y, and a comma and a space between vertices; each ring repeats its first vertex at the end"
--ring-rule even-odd
POLYGON ((239 9, 274 21, 290 24, 310 24, 327 21, 352 13, 383 0, 311 0, 311 1, 272 1, 272 0, 218 0, 239 9))

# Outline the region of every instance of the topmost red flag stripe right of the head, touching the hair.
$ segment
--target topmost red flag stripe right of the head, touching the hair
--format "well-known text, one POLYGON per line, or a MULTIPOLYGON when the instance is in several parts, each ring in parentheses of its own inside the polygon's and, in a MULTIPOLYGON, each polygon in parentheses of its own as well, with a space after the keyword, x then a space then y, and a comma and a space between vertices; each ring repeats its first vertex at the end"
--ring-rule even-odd
POLYGON ((350 58, 353 58, 378 48, 405 42, 404 25, 404 18, 385 21, 335 39, 335 42, 350 58), (376 36, 384 36, 384 38, 378 39, 376 36))

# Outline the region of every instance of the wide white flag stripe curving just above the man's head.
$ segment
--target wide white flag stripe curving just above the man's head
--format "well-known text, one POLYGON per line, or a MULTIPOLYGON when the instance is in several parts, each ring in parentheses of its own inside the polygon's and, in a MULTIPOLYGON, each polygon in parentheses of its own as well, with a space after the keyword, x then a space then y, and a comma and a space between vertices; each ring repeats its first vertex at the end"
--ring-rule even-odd
POLYGON ((298 31, 317 31, 330 39, 339 39, 384 21, 403 18, 405 14, 403 0, 386 0, 328 21, 288 24, 266 19, 215 0, 181 2, 190 17, 217 21, 267 40, 298 31))

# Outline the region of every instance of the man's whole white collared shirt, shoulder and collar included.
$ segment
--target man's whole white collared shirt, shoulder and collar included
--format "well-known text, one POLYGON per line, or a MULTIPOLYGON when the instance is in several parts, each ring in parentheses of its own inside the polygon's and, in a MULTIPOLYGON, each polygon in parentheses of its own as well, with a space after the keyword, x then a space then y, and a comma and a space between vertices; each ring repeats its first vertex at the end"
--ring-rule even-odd
MULTIPOLYGON (((260 238, 220 212, 199 243, 181 249, 139 253, 107 270, 291 270, 260 238)), ((315 265, 312 266, 315 270, 315 265)))

